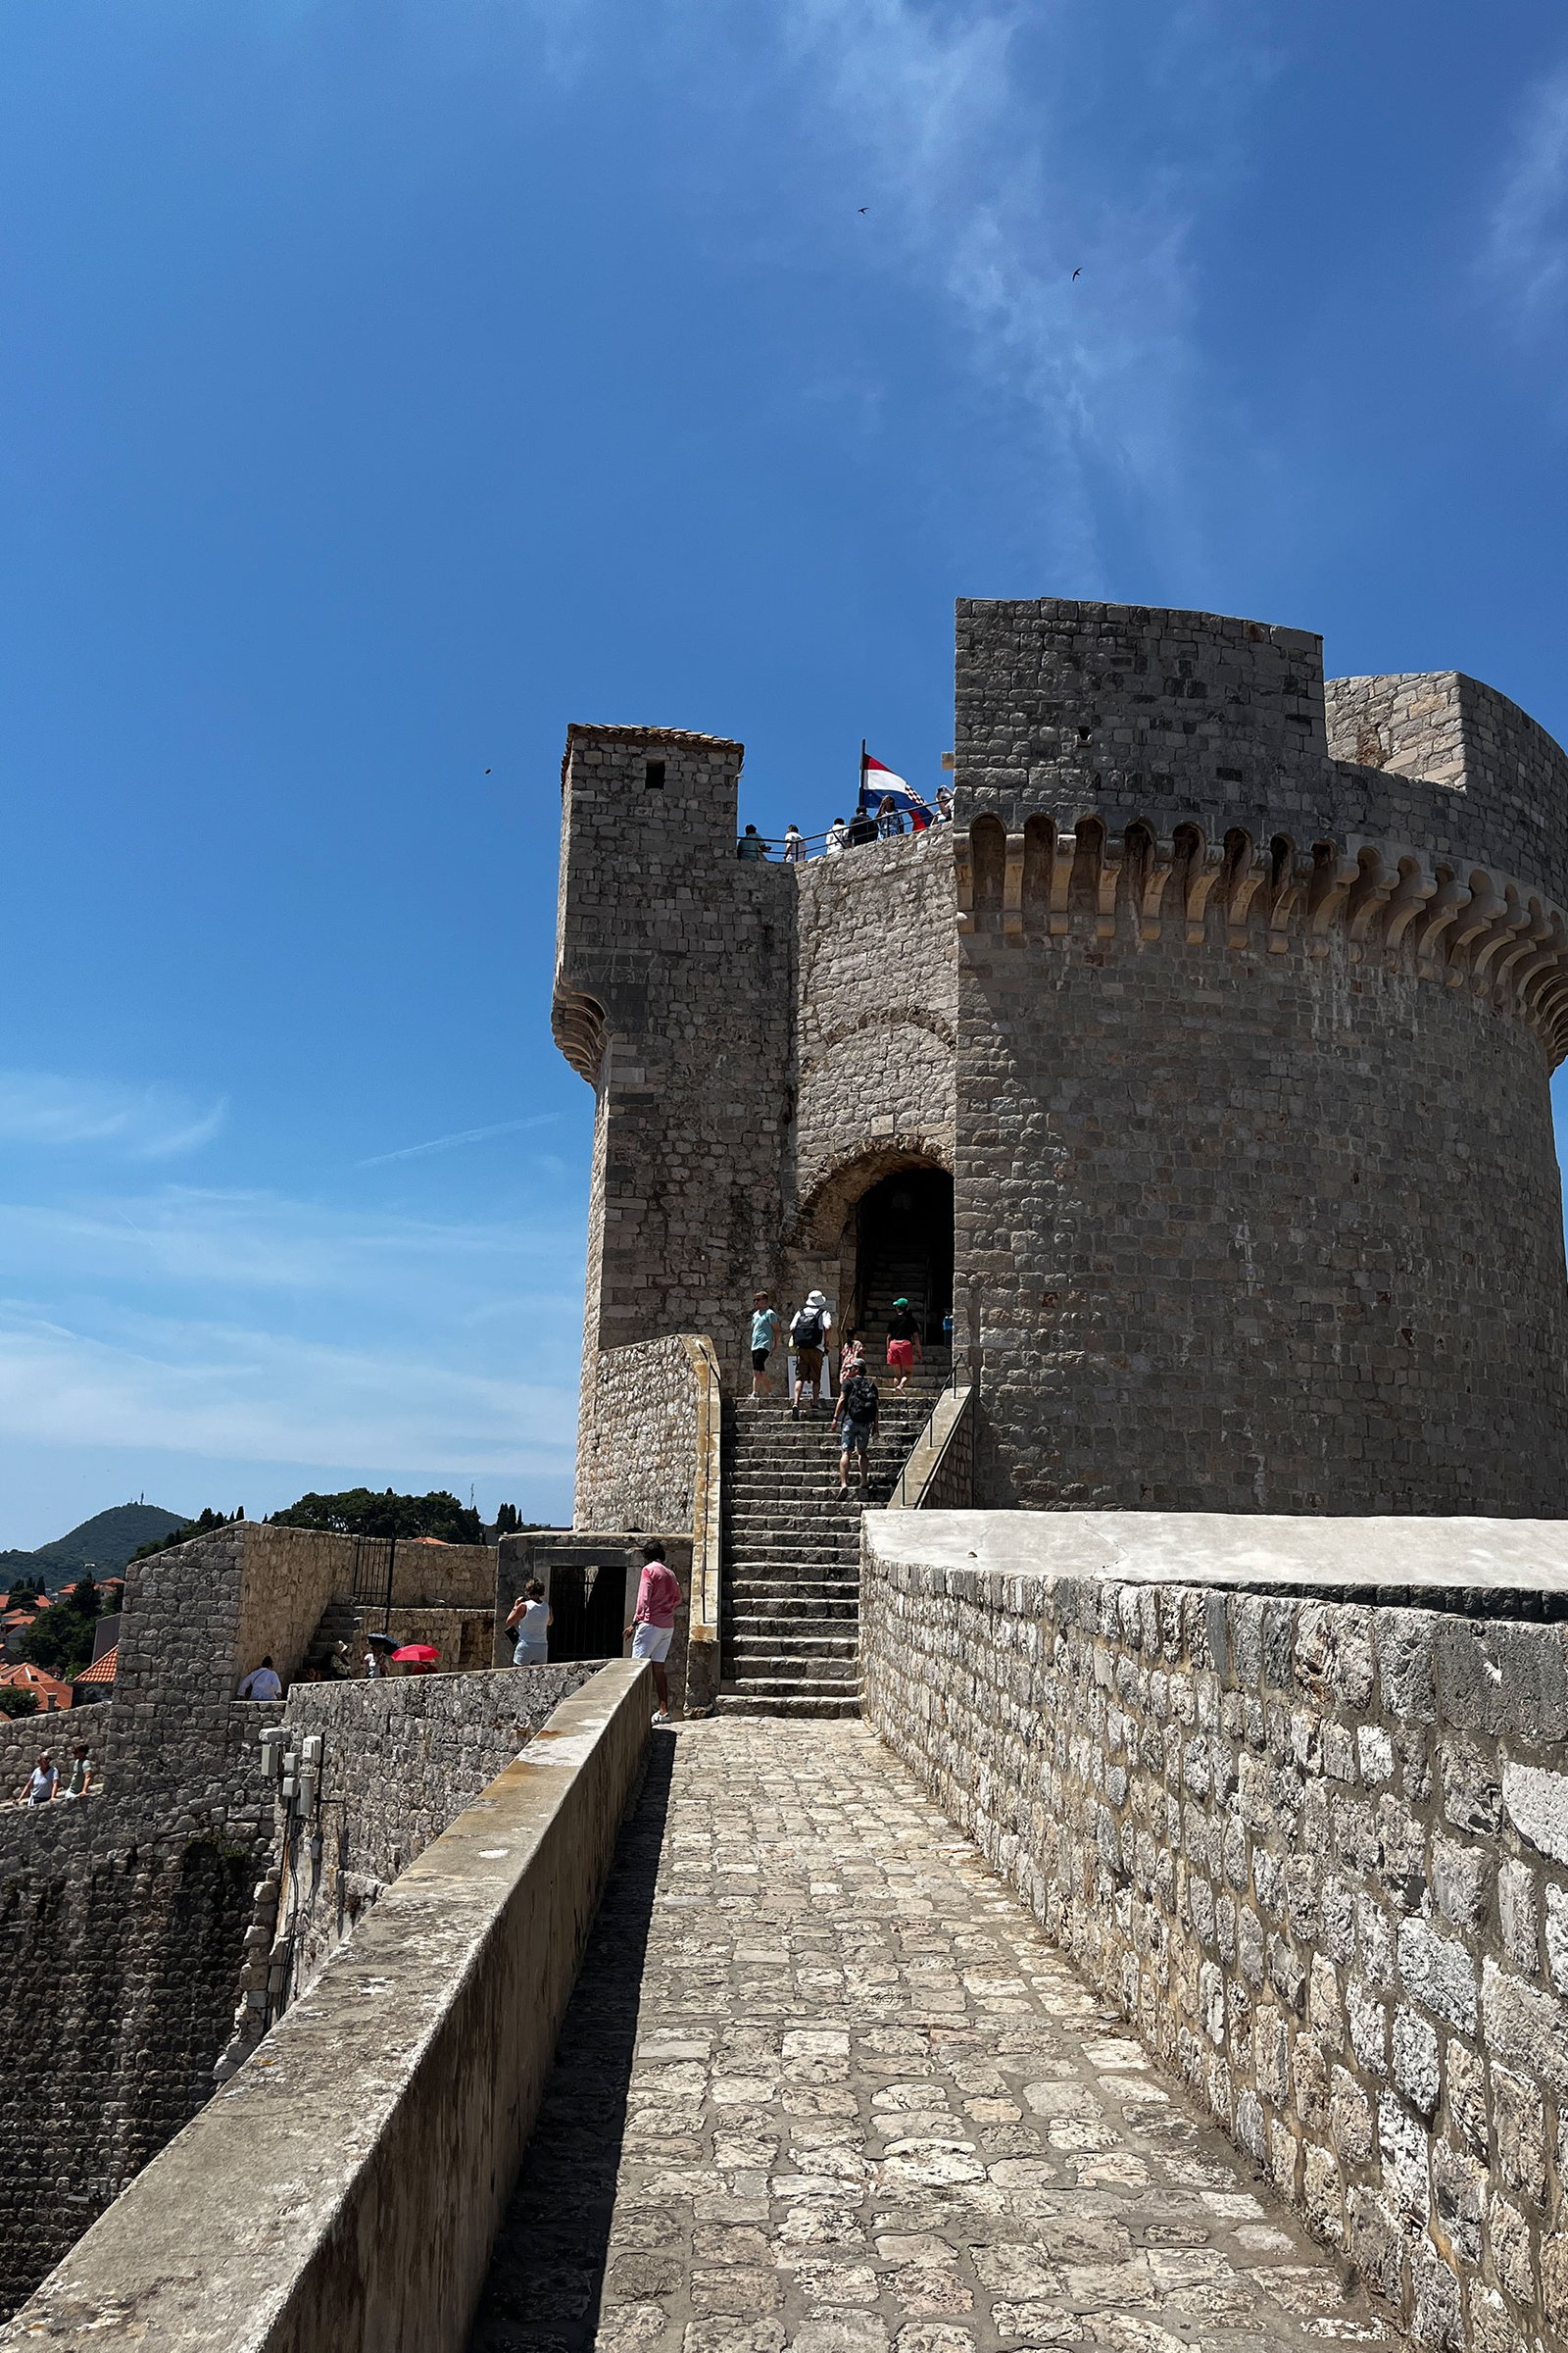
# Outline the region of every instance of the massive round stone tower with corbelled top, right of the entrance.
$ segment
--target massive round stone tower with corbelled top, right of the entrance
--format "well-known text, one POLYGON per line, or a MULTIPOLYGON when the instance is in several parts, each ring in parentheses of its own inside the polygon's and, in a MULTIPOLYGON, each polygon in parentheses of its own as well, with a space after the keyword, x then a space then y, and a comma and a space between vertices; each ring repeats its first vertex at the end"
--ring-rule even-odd
POLYGON ((1568 1511, 1568 762, 1455 673, 957 609, 987 1504, 1568 1511))

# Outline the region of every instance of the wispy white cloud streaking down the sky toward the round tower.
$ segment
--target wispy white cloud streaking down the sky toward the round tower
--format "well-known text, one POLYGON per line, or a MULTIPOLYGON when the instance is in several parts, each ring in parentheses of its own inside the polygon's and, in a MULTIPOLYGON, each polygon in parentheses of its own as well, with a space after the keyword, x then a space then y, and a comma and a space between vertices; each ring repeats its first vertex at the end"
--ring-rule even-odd
MULTIPOLYGON (((590 35, 590 71, 635 45, 644 78, 705 118, 691 202, 710 216, 726 184, 726 245, 759 268, 867 271, 929 308, 1030 569, 1103 586, 1107 506, 1194 551, 1194 445, 1225 400, 1201 365, 1194 231, 1279 71, 1234 7, 1185 0, 1114 78, 1081 12, 1025 0, 534 0, 531 38, 567 26, 574 73, 590 35)), ((851 358, 799 398, 860 438, 879 386, 851 358)))

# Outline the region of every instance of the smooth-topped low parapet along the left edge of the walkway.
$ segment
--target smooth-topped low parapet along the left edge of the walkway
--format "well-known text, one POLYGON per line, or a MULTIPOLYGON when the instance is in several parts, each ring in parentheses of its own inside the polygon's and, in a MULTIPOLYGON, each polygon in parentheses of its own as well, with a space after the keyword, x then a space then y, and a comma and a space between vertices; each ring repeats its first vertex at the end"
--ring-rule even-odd
POLYGON ((0 2346, 461 2353, 649 1737, 602 1668, 0 2346))

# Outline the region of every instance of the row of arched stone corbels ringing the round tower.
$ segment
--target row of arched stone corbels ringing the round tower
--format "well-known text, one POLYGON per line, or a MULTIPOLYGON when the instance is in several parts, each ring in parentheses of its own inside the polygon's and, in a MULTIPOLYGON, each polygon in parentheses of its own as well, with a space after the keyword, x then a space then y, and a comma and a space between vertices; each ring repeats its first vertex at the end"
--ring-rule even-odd
POLYGON ((1093 936, 1135 946, 1180 941, 1232 955, 1328 955, 1385 962, 1448 988, 1472 988, 1540 1031, 1552 1068, 1568 1056, 1568 913, 1481 866, 1455 868, 1399 842, 1298 847, 1222 840, 1182 824, 1121 833, 1093 812, 1048 814, 1006 831, 976 816, 954 831, 957 925, 966 936, 1093 936))

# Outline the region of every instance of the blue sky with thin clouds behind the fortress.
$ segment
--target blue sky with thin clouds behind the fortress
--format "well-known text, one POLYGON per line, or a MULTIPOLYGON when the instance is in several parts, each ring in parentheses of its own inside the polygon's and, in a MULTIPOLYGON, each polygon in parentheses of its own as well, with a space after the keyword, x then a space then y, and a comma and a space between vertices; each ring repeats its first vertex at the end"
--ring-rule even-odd
POLYGON ((0 1544, 567 1511, 567 720, 813 828, 1060 593, 1568 736, 1544 0, 9 0, 0 219, 0 1544))

